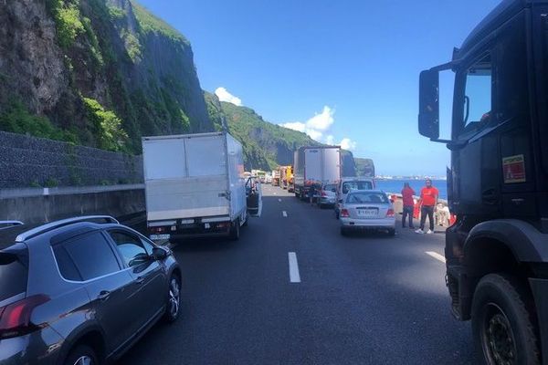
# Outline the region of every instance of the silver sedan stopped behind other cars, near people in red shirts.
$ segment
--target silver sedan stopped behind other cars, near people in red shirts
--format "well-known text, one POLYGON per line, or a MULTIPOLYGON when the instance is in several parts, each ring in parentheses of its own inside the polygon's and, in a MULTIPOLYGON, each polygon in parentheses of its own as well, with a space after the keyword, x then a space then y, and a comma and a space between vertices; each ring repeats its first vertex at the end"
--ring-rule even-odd
POLYGON ((340 211, 341 235, 350 231, 382 230, 395 235, 394 207, 380 190, 348 193, 340 211))

